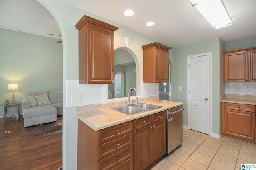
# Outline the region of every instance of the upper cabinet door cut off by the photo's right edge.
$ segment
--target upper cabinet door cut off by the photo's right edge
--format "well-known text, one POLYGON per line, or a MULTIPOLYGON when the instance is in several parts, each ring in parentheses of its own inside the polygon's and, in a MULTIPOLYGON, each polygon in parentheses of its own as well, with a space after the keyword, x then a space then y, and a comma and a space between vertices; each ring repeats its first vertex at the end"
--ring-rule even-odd
POLYGON ((256 82, 256 50, 248 52, 248 67, 249 82, 256 82))

